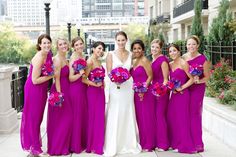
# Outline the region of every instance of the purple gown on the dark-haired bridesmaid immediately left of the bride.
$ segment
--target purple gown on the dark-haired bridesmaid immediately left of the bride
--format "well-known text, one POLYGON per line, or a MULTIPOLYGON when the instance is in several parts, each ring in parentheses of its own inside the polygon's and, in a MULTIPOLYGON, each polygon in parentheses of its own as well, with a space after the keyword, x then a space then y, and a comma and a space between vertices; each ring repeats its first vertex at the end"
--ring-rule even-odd
MULTIPOLYGON (((99 67, 100 68, 100 67, 99 67)), ((101 67, 105 73, 105 69, 101 67)), ((97 68, 93 69, 97 70, 97 68)), ((91 79, 91 72, 89 79, 91 79)), ((105 138, 105 92, 103 87, 87 87, 88 140, 86 152, 103 154, 105 138)))

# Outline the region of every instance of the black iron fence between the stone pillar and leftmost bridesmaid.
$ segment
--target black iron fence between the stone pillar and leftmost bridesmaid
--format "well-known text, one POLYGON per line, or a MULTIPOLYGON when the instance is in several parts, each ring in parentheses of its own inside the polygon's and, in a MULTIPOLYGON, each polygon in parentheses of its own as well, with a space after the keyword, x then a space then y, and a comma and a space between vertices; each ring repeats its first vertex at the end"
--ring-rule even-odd
POLYGON ((27 79, 27 66, 20 66, 18 71, 12 73, 11 100, 12 107, 20 112, 24 105, 24 85, 27 79))

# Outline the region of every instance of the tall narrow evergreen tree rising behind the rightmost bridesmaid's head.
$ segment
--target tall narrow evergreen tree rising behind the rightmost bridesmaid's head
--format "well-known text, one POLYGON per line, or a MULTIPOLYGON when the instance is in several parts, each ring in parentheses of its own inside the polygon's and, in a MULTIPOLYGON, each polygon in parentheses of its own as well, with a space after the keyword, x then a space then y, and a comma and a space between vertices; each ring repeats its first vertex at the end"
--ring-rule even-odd
POLYGON ((196 35, 199 37, 201 43, 199 46, 199 51, 204 51, 204 32, 202 28, 202 0, 195 0, 194 2, 194 13, 195 16, 192 21, 192 27, 191 27, 191 35, 196 35))

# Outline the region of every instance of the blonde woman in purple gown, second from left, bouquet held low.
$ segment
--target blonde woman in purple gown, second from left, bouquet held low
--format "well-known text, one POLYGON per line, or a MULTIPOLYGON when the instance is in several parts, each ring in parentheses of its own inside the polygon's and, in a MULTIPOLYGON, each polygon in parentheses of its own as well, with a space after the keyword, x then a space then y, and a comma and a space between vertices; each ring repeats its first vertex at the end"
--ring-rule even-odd
POLYGON ((47 137, 49 155, 70 154, 70 139, 72 134, 72 106, 70 103, 69 66, 66 53, 69 45, 65 39, 56 42, 57 55, 53 58, 55 66, 55 82, 50 92, 64 94, 62 106, 48 106, 47 137))

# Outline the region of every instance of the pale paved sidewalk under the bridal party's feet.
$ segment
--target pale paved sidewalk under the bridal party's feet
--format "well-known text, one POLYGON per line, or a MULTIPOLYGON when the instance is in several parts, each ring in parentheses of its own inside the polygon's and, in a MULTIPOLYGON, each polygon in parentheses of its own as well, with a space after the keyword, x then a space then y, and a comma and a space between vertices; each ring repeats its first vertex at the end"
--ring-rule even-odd
MULTIPOLYGON (((46 114, 45 114, 46 117, 46 114)), ((42 124, 42 136, 43 136, 43 150, 46 151, 46 132, 45 132, 45 118, 42 124)), ((19 119, 20 123, 20 119, 19 119)), ((20 125, 20 124, 19 124, 20 125)), ((198 154, 181 154, 173 151, 167 152, 142 152, 137 155, 127 154, 120 155, 117 157, 236 157, 236 151, 229 148, 218 139, 214 138, 209 132, 204 130, 204 143, 205 152, 198 154)), ((20 134, 17 129, 12 134, 0 135, 0 157, 26 157, 27 152, 21 149, 20 145, 20 134)), ((102 157, 95 154, 71 154, 67 157, 102 157)))

